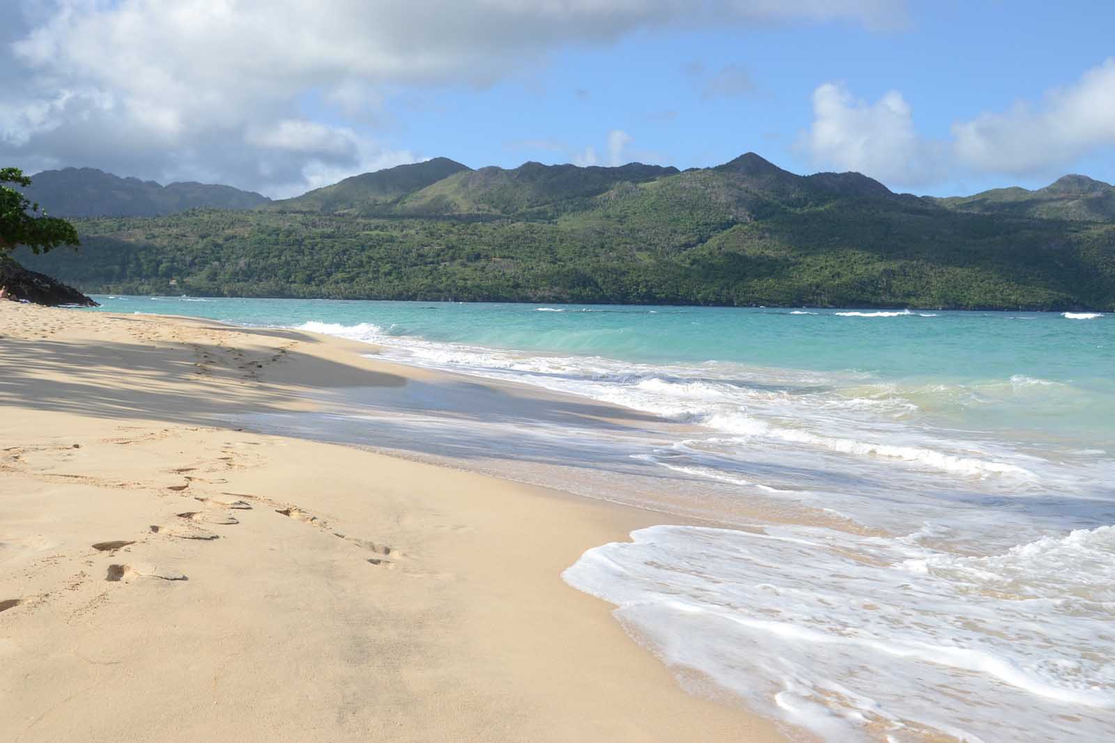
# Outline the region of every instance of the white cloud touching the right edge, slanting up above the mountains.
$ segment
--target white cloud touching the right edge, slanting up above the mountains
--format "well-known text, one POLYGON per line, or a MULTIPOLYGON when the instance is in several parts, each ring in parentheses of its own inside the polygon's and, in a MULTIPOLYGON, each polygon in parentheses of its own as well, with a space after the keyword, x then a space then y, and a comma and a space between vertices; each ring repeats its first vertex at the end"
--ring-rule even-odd
POLYGON ((952 126, 956 154, 971 168, 1032 174, 1115 145, 1115 58, 1049 91, 1040 106, 1018 104, 952 126))

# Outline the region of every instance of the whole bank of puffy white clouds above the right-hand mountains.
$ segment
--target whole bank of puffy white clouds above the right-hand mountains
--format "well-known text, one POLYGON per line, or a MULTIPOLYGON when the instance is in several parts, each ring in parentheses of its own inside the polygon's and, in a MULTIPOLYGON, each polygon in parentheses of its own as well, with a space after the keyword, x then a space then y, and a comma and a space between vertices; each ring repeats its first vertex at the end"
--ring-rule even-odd
POLYGON ((813 92, 813 124, 803 137, 815 165, 859 170, 894 186, 957 175, 1055 176, 1080 157, 1115 146, 1115 58, 1039 105, 1019 102, 950 127, 950 139, 919 135, 913 109, 892 90, 875 102, 841 84, 813 92))

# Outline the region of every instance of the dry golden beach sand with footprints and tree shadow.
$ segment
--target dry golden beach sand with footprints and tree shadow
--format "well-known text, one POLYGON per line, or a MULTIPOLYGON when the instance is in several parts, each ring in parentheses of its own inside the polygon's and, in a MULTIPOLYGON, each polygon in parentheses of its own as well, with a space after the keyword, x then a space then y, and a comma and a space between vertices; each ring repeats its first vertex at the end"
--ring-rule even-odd
POLYGON ((782 740, 561 580, 660 515, 229 427, 357 351, 0 302, 0 739, 782 740))

